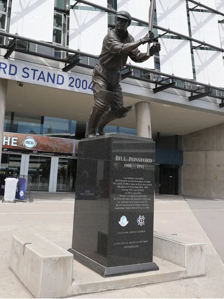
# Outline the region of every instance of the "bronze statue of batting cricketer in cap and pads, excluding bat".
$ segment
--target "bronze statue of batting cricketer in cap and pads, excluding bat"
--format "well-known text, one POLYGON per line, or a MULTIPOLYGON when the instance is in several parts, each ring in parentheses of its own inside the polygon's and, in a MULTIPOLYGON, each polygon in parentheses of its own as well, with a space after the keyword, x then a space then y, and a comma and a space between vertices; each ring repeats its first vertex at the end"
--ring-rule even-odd
MULTIPOLYGON (((153 43, 154 34, 149 31, 143 38, 134 41, 127 32, 131 16, 126 11, 119 11, 115 16, 115 28, 104 39, 100 63, 93 71, 93 92, 95 105, 89 118, 86 138, 96 137, 97 128, 100 136, 105 135, 104 127, 115 119, 124 118, 134 109, 123 106, 123 94, 120 86, 120 69, 124 67, 128 56, 134 62, 146 61, 147 53, 141 53, 138 46, 153 43)), ((150 48, 150 56, 160 51, 160 43, 150 48)))

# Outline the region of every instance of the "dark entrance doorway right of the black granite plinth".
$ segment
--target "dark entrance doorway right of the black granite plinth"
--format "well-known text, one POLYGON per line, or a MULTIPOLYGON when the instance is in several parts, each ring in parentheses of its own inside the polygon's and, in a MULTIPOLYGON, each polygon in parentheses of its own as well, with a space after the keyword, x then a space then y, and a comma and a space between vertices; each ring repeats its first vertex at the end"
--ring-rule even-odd
POLYGON ((178 195, 179 165, 160 165, 159 194, 178 195))

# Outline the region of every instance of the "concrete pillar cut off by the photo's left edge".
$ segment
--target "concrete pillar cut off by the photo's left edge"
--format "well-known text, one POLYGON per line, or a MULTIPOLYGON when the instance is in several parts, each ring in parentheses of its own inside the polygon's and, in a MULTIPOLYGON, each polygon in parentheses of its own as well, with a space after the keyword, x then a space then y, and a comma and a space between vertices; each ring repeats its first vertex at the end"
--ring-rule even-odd
POLYGON ((0 162, 3 143, 4 115, 8 80, 0 79, 0 162))

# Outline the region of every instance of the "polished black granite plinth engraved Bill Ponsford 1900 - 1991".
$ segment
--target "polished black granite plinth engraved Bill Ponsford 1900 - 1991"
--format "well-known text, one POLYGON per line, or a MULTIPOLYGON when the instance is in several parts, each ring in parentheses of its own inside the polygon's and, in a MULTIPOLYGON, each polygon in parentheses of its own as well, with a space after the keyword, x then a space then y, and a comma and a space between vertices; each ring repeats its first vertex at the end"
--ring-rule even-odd
POLYGON ((108 135, 79 142, 75 259, 102 276, 158 270, 153 263, 155 144, 108 135))

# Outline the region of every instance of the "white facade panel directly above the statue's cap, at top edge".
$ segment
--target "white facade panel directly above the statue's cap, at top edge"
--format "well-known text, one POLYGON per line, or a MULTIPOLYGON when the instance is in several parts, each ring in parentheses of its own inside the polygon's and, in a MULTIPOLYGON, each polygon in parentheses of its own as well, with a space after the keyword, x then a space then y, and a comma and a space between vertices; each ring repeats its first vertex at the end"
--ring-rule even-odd
POLYGON ((117 0, 117 11, 128 11, 132 17, 147 22, 149 5, 148 0, 117 0))

